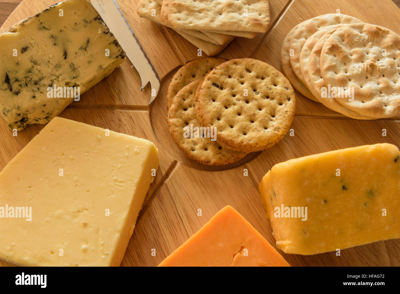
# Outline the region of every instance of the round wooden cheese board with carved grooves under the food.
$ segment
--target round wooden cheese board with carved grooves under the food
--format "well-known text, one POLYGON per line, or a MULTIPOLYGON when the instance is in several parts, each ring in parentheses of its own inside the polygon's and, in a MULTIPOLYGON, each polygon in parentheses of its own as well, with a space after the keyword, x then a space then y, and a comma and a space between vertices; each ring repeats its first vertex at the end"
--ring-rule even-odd
MULTIPOLYGON (((158 147, 160 167, 121 266, 156 266, 226 205, 241 213, 276 248, 258 192, 260 180, 274 164, 358 145, 392 143, 400 146, 398 118, 358 121, 296 92, 297 109, 291 127, 294 136, 286 135, 274 147, 251 153, 237 163, 222 167, 201 165, 188 159, 168 132, 166 91, 179 66, 198 58, 197 48, 174 31, 139 18, 137 3, 138 0, 118 1, 162 78, 158 97, 148 106, 150 87, 140 91, 139 75, 126 60, 82 95, 80 101, 73 102, 60 114, 61 117, 146 138, 158 147), (386 129, 386 136, 382 136, 383 129, 386 129), (246 171, 248 175, 245 175, 246 171), (198 209, 202 211, 201 216, 198 216, 198 209), (155 256, 152 254, 154 249, 155 256)), ((22 1, 0 32, 52 4, 54 0, 22 1)), ((303 20, 336 13, 337 10, 400 33, 400 9, 390 0, 270 0, 270 6, 270 30, 252 40, 236 38, 219 57, 256 58, 281 70, 280 48, 286 34, 303 20)), ((43 127, 30 125, 14 137, 1 119, 0 170, 43 127)), ((292 266, 400 266, 400 239, 345 249, 340 256, 336 256, 336 252, 302 256, 278 251, 292 266)), ((4 261, 0 264, 13 266, 4 261)))

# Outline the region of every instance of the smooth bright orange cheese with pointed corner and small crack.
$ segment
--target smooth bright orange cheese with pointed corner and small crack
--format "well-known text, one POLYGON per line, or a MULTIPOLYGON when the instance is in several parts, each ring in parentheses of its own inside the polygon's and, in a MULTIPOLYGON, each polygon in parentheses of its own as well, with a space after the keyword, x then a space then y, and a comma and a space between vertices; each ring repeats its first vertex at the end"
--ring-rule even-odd
POLYGON ((221 209, 158 266, 290 266, 242 215, 221 209))

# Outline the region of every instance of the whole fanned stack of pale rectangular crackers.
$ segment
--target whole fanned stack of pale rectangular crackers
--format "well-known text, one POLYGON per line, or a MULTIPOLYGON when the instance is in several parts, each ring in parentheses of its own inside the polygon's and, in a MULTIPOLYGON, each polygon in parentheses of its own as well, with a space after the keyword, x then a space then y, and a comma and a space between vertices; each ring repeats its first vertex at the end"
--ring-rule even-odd
POLYGON ((208 56, 270 26, 269 0, 140 0, 138 14, 172 28, 208 56))

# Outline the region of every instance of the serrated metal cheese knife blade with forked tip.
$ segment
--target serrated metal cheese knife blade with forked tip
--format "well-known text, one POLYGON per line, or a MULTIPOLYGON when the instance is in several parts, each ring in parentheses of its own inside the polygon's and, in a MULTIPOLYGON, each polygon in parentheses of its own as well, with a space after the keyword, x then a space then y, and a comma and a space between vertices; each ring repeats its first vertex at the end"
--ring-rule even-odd
POLYGON ((122 49, 124 49, 126 56, 138 71, 142 81, 141 90, 143 91, 150 82, 152 95, 149 104, 152 103, 160 90, 160 77, 128 20, 126 20, 120 6, 116 0, 90 0, 90 3, 100 14, 122 49))

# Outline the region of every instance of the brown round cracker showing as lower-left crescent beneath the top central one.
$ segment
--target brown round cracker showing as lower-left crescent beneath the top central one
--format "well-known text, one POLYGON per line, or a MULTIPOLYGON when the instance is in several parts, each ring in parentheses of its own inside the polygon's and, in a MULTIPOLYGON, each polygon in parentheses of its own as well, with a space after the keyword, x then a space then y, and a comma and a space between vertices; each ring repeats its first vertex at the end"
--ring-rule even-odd
POLYGON ((221 146, 216 141, 212 141, 211 136, 196 137, 196 128, 201 126, 194 114, 193 104, 199 83, 200 80, 184 86, 172 100, 168 110, 168 125, 172 139, 190 159, 199 163, 206 165, 234 163, 245 157, 247 153, 232 151, 221 146), (193 130, 193 137, 190 137, 190 129, 193 130))

